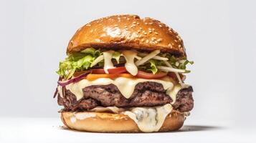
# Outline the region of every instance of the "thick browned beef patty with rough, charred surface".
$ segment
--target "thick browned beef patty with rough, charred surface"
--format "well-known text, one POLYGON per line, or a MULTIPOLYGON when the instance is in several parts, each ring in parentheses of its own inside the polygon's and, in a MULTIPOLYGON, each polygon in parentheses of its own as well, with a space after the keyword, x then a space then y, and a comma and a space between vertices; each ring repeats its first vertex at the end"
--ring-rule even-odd
MULTIPOLYGON (((82 112, 94 107, 153 107, 168 104, 173 100, 166 94, 162 84, 156 82, 142 82, 136 85, 129 99, 123 97, 114 84, 93 85, 82 89, 84 97, 78 100, 75 95, 64 89, 64 97, 58 94, 58 104, 64 106, 65 112, 82 112)), ((192 87, 181 89, 176 97, 174 109, 189 112, 194 106, 192 87)))

